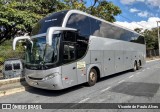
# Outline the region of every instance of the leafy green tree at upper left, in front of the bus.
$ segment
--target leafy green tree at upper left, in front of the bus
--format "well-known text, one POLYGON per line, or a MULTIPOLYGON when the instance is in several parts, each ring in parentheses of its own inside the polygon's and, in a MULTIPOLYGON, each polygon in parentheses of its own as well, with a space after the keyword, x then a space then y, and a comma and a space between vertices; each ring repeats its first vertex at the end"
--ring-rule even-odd
POLYGON ((24 4, 0 1, 0 43, 15 35, 22 35, 32 30, 32 26, 43 16, 33 12, 35 3, 24 4))

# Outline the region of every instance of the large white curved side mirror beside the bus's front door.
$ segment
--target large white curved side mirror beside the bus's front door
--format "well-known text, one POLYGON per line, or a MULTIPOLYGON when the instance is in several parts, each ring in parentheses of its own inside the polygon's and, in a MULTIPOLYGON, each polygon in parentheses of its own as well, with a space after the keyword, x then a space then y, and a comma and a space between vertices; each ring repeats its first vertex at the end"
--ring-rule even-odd
POLYGON ((57 32, 59 33, 59 31, 77 31, 77 29, 66 27, 50 27, 47 30, 46 44, 52 46, 52 35, 57 32))

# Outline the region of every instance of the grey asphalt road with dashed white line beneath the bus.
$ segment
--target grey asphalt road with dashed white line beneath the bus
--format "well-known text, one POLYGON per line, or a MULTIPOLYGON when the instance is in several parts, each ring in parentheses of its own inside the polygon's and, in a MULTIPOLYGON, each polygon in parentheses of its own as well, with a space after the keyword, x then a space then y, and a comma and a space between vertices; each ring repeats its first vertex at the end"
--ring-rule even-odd
MULTIPOLYGON (((0 97, 0 103, 160 103, 160 61, 151 61, 136 72, 126 71, 100 79, 95 86, 84 84, 53 91, 31 88, 0 97)), ((87 104, 86 104, 87 106, 87 104)), ((63 107, 62 107, 63 108, 63 107)), ((159 107, 160 108, 160 107, 159 107)), ((1 110, 0 110, 1 111, 1 110)), ((4 110, 3 110, 4 111, 4 110)), ((6 111, 6 110, 5 110, 6 111)), ((7 110, 11 111, 11 110, 7 110)), ((17 112, 18 110, 12 110, 17 112)), ((27 110, 20 110, 26 111, 27 110)), ((40 110, 30 110, 39 112, 40 110)), ((159 109, 54 109, 47 112, 159 112, 159 109)))

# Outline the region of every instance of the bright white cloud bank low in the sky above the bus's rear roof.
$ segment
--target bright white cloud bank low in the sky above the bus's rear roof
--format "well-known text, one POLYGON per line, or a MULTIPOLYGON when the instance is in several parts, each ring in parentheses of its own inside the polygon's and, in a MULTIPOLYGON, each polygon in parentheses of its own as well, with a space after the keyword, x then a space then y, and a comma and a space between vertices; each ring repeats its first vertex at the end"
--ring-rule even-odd
POLYGON ((118 24, 120 26, 129 28, 131 30, 134 30, 135 28, 142 28, 142 29, 152 29, 154 27, 157 27, 157 22, 160 21, 160 18, 158 17, 150 17, 147 21, 140 21, 140 22, 114 22, 115 24, 118 24))

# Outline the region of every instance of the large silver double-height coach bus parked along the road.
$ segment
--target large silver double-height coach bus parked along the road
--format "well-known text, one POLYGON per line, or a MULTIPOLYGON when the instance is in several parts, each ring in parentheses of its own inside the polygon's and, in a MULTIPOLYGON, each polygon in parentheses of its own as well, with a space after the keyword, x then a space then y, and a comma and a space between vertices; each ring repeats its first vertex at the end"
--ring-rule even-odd
POLYGON ((60 90, 145 64, 144 37, 78 10, 53 13, 25 40, 25 79, 30 86, 60 90))

